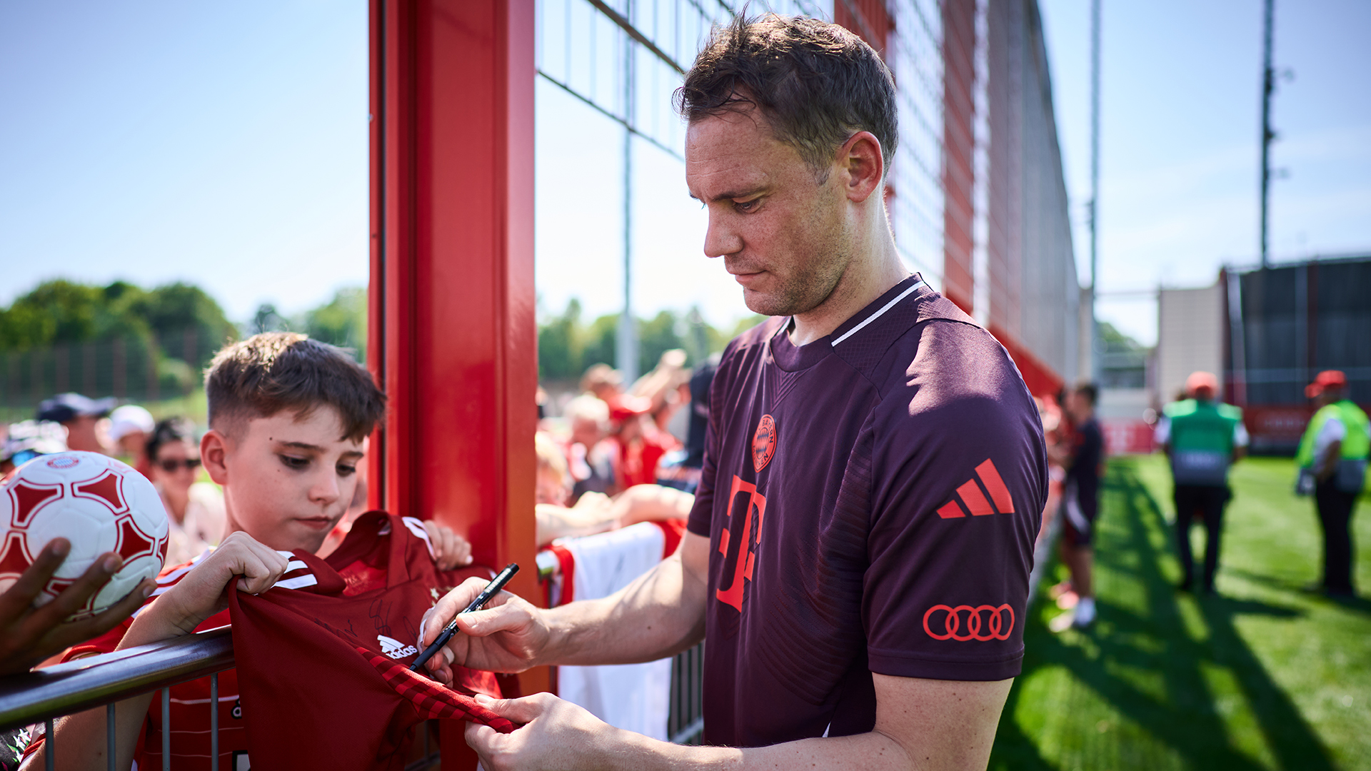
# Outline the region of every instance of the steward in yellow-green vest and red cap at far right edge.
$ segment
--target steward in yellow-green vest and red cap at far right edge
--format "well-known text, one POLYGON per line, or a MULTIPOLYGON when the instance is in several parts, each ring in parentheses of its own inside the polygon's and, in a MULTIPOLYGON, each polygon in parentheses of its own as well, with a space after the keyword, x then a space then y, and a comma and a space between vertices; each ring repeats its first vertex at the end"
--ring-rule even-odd
POLYGON ((1352 509, 1366 486, 1371 454, 1367 413, 1348 398, 1348 379, 1337 369, 1320 372, 1305 390, 1319 412, 1300 439, 1298 491, 1313 493, 1323 527, 1323 582, 1333 597, 1352 597, 1352 509))

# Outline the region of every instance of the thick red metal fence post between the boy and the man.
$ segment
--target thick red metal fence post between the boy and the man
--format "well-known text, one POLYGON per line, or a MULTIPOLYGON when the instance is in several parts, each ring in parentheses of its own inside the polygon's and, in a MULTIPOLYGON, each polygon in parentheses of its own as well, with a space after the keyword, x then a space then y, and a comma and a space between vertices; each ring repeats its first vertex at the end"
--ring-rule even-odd
POLYGON ((533 0, 372 0, 370 25, 370 503, 518 562, 536 601, 533 0))

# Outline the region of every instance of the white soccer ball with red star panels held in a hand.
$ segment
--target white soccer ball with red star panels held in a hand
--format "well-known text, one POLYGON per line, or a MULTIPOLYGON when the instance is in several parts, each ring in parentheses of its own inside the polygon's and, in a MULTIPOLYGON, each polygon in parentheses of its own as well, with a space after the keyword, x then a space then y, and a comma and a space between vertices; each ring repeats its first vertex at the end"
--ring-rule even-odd
POLYGON ((119 569, 73 616, 104 610, 156 576, 167 554, 167 514, 152 483, 99 453, 38 455, 0 486, 0 591, 14 586, 53 538, 71 551, 34 600, 44 605, 75 583, 96 557, 114 551, 119 569))

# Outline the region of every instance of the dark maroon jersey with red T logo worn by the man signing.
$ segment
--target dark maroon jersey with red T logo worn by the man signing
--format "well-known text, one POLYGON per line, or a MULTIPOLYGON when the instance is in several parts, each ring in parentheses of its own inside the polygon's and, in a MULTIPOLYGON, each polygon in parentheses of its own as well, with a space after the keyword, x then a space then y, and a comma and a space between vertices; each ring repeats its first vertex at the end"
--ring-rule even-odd
POLYGON ((729 343, 710 391, 707 744, 865 733, 871 672, 1023 657, 1047 462, 1005 348, 919 276, 808 346, 788 321, 729 343))

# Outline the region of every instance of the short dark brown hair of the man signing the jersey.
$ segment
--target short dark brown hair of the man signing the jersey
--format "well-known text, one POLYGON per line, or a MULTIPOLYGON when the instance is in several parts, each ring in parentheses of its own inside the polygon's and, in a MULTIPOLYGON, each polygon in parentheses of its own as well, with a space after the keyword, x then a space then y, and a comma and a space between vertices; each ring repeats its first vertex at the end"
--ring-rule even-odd
POLYGON ((886 63, 856 34, 806 16, 739 14, 714 27, 675 100, 690 122, 755 104, 820 184, 834 152, 857 132, 876 136, 887 170, 899 141, 886 63))

